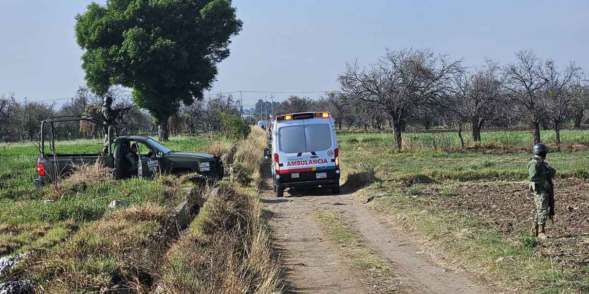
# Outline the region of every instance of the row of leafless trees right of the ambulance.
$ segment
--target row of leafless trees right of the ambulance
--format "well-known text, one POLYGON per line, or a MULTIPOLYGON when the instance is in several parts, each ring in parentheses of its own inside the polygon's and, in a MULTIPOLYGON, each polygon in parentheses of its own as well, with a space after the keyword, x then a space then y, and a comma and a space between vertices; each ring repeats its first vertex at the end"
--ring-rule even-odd
POLYGON ((487 126, 519 125, 537 143, 541 128, 551 126, 560 145, 562 123, 579 128, 589 106, 589 83, 579 66, 559 68, 531 50, 516 52, 504 66, 488 59, 475 68, 429 49, 386 51, 375 64, 348 62, 338 81, 342 92, 327 97, 333 109, 347 107, 357 118, 384 115, 397 148, 406 126, 418 121, 426 129, 432 123, 455 126, 461 139, 468 127, 473 141, 481 141, 487 126))

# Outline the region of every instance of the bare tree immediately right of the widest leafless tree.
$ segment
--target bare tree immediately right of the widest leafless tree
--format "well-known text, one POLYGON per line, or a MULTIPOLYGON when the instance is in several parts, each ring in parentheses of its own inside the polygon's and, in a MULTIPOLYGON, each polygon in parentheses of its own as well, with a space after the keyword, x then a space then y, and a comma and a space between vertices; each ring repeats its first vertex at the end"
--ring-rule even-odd
POLYGON ((501 93, 498 62, 487 59, 485 65, 474 72, 464 72, 456 79, 455 93, 447 110, 462 131, 465 123, 471 125, 472 141, 481 141, 485 122, 502 118, 505 99, 501 93))

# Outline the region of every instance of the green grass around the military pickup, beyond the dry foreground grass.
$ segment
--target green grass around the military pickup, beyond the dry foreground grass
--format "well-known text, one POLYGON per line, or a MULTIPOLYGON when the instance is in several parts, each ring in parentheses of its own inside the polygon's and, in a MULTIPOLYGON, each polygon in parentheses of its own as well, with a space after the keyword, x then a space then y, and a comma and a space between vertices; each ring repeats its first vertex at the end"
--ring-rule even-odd
MULTIPOLYGON (((176 136, 164 143, 177 151, 204 151, 218 136, 176 136)), ((56 141, 58 153, 98 153, 100 140, 56 141)), ((125 181, 65 182, 58 191, 51 185, 37 189, 37 156, 34 143, 0 144, 0 256, 31 248, 47 248, 65 239, 86 223, 100 219, 109 211, 108 203, 117 199, 125 206, 158 203, 176 205, 179 189, 163 181, 128 179, 125 181)))

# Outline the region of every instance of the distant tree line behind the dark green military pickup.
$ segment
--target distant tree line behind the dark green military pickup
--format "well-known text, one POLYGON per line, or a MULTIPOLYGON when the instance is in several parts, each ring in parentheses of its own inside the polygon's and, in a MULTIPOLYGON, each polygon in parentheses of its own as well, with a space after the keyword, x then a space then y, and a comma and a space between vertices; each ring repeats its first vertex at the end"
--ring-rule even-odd
MULTIPOLYGON (((153 116, 137 109, 127 89, 111 87, 107 94, 114 98, 113 108, 130 107, 117 119, 119 135, 147 134, 158 131, 153 116)), ((57 103, 18 102, 14 94, 0 95, 0 142, 37 141, 41 121, 51 116, 90 115, 101 118, 103 96, 80 87, 76 95, 58 107, 57 103)), ((241 122, 240 107, 232 95, 217 95, 206 101, 181 104, 177 115, 168 118, 167 131, 173 135, 200 132, 223 133, 240 138, 247 132, 247 123, 241 122)), ((55 124, 57 138, 102 138, 102 128, 89 122, 62 122, 55 124)))

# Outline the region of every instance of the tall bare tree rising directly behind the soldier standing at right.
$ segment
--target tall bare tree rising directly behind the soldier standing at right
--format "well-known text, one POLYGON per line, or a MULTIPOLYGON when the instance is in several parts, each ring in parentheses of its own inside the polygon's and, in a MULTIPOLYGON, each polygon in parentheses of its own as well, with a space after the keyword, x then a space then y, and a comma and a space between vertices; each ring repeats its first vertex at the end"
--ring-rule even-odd
POLYGON ((534 143, 540 143, 540 122, 547 116, 541 93, 548 83, 543 62, 531 50, 515 52, 515 59, 504 68, 502 86, 514 105, 512 115, 528 123, 534 143))

